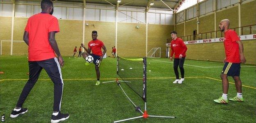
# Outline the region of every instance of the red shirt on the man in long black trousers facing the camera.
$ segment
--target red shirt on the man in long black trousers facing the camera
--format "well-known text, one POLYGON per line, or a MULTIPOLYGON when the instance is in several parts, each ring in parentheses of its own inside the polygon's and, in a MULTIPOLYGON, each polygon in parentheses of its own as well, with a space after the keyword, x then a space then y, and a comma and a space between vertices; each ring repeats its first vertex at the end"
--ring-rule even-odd
POLYGON ((184 41, 180 38, 171 41, 171 57, 178 59, 179 55, 183 55, 182 57, 186 56, 187 46, 185 45, 184 41))

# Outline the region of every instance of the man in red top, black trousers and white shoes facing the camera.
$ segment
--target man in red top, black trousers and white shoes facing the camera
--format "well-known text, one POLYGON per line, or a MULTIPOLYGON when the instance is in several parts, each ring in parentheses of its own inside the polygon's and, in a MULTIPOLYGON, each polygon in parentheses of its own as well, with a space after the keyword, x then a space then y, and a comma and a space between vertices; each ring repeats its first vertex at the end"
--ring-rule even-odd
POLYGON ((176 80, 173 83, 178 83, 182 84, 184 81, 184 68, 183 64, 185 62, 185 57, 186 57, 186 51, 187 51, 187 46, 183 42, 182 39, 177 37, 177 32, 173 31, 171 32, 171 56, 170 60, 172 61, 172 56, 174 55, 174 73, 176 75, 176 80), (181 70, 181 80, 179 78, 179 73, 178 73, 178 66, 181 70))

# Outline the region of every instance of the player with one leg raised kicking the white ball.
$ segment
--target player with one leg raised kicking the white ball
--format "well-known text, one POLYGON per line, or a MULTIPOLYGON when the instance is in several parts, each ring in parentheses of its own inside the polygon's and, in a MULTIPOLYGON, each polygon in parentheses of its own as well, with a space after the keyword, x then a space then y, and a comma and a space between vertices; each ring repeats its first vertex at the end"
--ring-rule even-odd
POLYGON ((96 70, 96 75, 97 75, 97 81, 95 85, 100 84, 100 64, 103 59, 103 56, 107 52, 106 47, 104 46, 104 43, 97 39, 98 33, 97 31, 92 31, 91 32, 91 38, 92 40, 88 43, 88 49, 85 48, 84 44, 81 43, 81 46, 85 49, 86 52, 82 52, 82 57, 85 59, 87 56, 91 55, 94 60, 93 63, 95 64, 95 70, 96 70), (103 49, 103 53, 101 51, 101 48, 103 49), (91 53, 92 51, 92 53, 91 53))

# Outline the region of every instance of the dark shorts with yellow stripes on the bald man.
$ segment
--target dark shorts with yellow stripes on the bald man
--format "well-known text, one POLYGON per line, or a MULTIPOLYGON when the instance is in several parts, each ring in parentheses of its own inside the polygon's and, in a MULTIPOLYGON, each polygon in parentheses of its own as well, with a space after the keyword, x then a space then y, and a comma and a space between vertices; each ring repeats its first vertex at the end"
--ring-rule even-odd
POLYGON ((222 74, 226 74, 228 76, 240 76, 240 63, 232 63, 232 62, 226 62, 222 74))

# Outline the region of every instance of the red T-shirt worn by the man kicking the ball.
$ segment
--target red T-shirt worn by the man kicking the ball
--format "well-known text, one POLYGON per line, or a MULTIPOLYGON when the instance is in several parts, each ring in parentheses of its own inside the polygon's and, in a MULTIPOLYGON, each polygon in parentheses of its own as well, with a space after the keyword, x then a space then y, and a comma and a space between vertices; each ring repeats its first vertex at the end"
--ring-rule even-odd
POLYGON ((92 54, 94 55, 102 56, 102 51, 101 51, 102 46, 104 46, 104 43, 99 39, 91 40, 88 43, 88 48, 91 49, 92 54))

